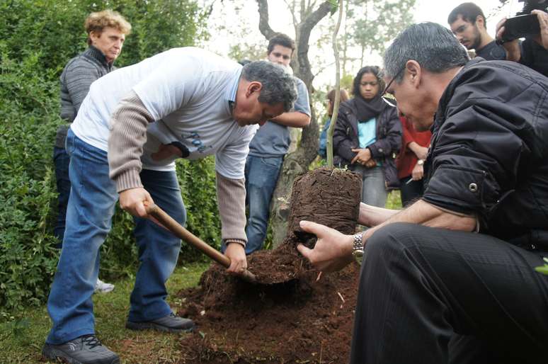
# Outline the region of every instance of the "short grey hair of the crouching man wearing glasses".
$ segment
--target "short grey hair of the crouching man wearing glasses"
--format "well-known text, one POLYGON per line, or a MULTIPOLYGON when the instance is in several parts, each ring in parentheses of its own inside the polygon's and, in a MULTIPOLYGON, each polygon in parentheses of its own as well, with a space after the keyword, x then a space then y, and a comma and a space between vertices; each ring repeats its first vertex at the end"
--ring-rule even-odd
POLYGON ((469 57, 449 29, 428 22, 409 26, 384 52, 387 77, 398 75, 396 82, 401 82, 404 72, 400 71, 409 60, 418 62, 428 72, 442 73, 464 66, 469 57))

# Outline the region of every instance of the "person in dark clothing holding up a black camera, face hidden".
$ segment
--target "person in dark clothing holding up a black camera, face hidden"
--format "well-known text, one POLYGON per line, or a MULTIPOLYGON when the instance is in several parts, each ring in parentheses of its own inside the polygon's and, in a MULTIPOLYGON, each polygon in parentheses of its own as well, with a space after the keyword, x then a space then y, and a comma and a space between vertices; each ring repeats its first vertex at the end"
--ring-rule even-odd
POLYGON ((544 74, 544 76, 548 76, 548 13, 535 9, 531 11, 531 14, 537 16, 539 33, 526 35, 521 45, 518 42, 518 38, 503 41, 509 26, 507 23, 509 19, 503 18, 496 25, 496 38, 499 42, 503 42, 508 61, 525 64, 525 66, 535 69, 535 71, 544 74))

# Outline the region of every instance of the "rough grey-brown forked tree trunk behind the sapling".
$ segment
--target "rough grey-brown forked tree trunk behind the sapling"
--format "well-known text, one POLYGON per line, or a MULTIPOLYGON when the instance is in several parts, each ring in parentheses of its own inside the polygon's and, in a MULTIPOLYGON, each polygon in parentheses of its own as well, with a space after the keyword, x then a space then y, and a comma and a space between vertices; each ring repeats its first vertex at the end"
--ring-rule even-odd
MULTIPOLYGON (((268 2, 267 0, 256 1, 259 13, 259 30, 268 40, 275 34, 275 31, 268 24, 268 2)), ((304 4, 304 1, 301 4, 304 4)), ((312 11, 312 8, 301 8, 301 21, 296 27, 295 53, 297 57, 293 57, 290 66, 295 76, 302 79, 304 84, 307 85, 309 94, 313 92, 312 81, 314 80, 314 74, 312 74, 308 59, 310 33, 314 26, 331 12, 331 8, 332 5, 329 1, 323 1, 314 11, 312 11)), ((295 14, 293 15, 294 19, 297 18, 295 14)), ((316 158, 319 127, 314 108, 311 108, 311 114, 310 124, 303 128, 297 150, 285 156, 282 171, 280 171, 280 177, 270 202, 270 227, 273 231, 273 246, 278 246, 287 232, 287 217, 289 216, 289 200, 293 181, 295 177, 306 173, 309 164, 316 158)))

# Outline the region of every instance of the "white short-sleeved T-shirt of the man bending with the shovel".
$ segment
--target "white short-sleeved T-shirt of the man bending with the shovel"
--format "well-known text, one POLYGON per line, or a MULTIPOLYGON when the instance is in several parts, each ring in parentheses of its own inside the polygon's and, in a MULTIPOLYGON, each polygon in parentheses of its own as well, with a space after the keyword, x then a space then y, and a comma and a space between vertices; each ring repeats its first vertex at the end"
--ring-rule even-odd
POLYGON ((160 144, 181 142, 187 159, 215 154, 215 168, 227 178, 244 178, 249 141, 257 126, 239 127, 232 118, 241 65, 195 47, 174 48, 118 69, 91 85, 72 130, 84 142, 108 150, 110 115, 135 91, 154 120, 147 128, 144 169, 170 171, 174 159, 153 161, 160 144), (104 90, 109 90, 105 93, 104 90))

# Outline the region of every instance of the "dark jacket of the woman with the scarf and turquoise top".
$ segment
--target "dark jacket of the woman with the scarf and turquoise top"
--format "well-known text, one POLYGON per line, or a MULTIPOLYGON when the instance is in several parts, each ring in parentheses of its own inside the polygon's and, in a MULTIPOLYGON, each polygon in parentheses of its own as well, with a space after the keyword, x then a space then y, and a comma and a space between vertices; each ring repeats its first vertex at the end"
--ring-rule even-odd
MULTIPOLYGON (((338 111, 337 124, 333 130, 333 162, 338 166, 348 166, 353 170, 350 161, 356 153, 353 148, 359 148, 358 118, 354 99, 341 103, 338 111)), ((387 105, 377 116, 377 142, 368 146, 371 156, 382 162, 384 179, 387 189, 399 186, 395 159, 401 147, 401 122, 396 108, 387 105)))

